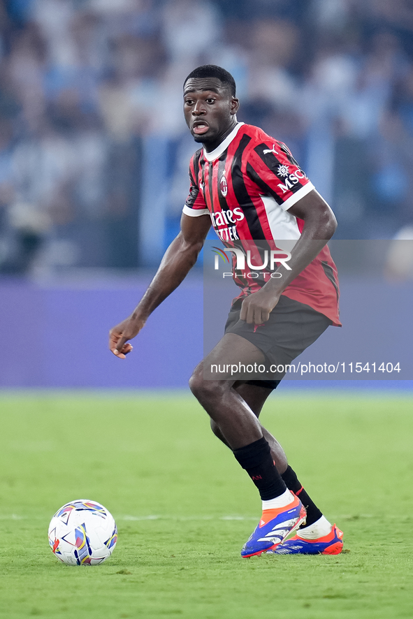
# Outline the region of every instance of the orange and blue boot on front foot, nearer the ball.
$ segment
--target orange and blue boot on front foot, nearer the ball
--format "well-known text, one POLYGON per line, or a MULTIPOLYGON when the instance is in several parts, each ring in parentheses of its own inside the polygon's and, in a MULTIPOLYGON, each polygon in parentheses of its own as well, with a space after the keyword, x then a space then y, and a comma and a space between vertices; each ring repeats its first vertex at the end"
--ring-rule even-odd
POLYGON ((266 509, 256 530, 245 543, 241 556, 245 559, 273 551, 283 539, 295 531, 305 520, 305 507, 298 497, 293 502, 278 509, 266 509))

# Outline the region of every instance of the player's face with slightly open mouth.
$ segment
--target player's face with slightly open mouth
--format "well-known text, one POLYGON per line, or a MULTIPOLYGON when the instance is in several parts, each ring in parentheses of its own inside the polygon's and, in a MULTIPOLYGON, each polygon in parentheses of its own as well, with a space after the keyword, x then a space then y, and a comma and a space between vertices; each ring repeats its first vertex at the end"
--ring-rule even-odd
POLYGON ((191 78, 184 86, 184 116, 196 142, 213 150, 236 125, 239 102, 217 78, 191 78))

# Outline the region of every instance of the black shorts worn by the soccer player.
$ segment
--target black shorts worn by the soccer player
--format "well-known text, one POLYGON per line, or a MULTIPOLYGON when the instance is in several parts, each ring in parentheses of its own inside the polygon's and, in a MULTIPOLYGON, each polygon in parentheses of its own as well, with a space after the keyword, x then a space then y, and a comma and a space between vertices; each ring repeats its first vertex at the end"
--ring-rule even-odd
MULTIPOLYGON (((268 365, 288 365, 333 324, 310 305, 282 295, 268 321, 257 327, 240 320, 242 300, 238 299, 231 307, 225 333, 236 333, 254 344, 266 356, 268 365)), ((254 378, 246 382, 275 389, 284 374, 275 373, 271 380, 254 378)))

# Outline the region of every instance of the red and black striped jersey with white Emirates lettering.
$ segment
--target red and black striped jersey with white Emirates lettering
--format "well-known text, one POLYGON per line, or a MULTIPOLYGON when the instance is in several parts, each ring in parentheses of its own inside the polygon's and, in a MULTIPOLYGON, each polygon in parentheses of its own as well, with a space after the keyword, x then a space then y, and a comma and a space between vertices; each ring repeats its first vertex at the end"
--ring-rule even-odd
MULTIPOLYGON (((191 158, 189 177, 191 188, 183 212, 191 217, 209 214, 226 247, 243 247, 246 253, 256 242, 256 258, 262 259, 266 243, 270 249, 287 249, 282 240, 300 238, 304 221, 289 213, 289 208, 314 186, 288 147, 259 127, 238 123, 215 150, 198 150, 191 158)), ((252 274, 233 270, 233 279, 242 289, 238 298, 268 281, 265 269, 259 277, 248 275, 252 274)), ((340 326, 337 269, 327 246, 283 294, 340 326)))

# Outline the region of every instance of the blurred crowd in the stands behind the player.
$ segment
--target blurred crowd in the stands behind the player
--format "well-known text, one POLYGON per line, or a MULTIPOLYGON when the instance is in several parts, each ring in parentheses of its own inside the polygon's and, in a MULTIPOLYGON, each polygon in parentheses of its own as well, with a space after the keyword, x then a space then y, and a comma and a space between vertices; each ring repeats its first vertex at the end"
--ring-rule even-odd
POLYGON ((238 119, 289 145, 336 238, 409 238, 410 0, 0 0, 0 24, 1 273, 158 263, 197 148, 182 83, 207 63, 236 79, 238 119))

